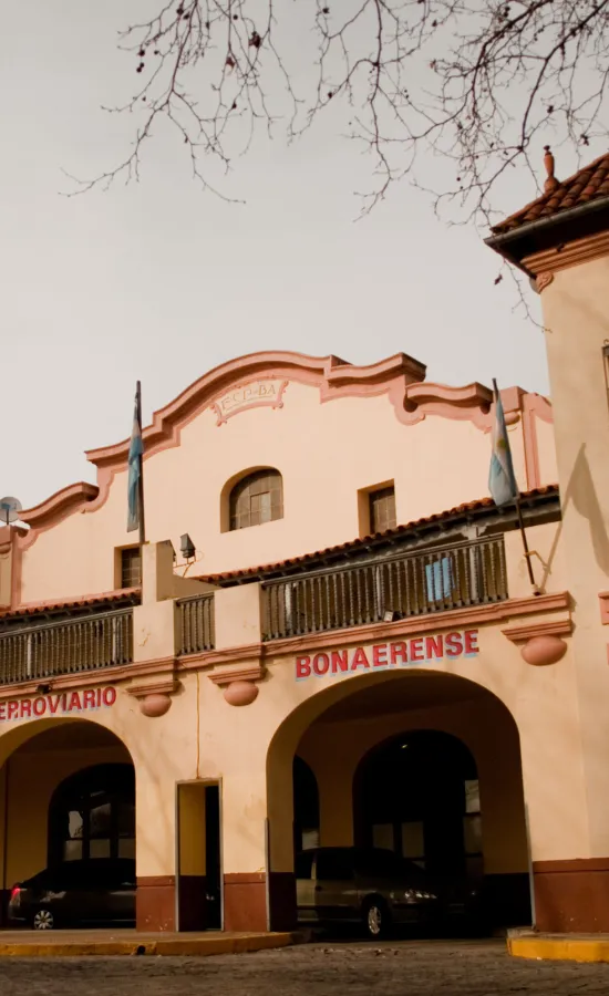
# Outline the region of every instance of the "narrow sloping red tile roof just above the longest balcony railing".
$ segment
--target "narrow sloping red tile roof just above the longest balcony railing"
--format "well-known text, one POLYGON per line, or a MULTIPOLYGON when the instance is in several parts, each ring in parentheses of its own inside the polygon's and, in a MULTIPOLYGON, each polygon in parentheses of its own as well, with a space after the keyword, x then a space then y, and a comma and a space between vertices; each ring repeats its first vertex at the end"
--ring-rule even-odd
MULTIPOLYGON (((558 497, 558 485, 546 485, 543 488, 533 488, 530 491, 523 491, 522 498, 536 498, 544 495, 548 497, 558 497)), ((314 553, 304 553, 302 557, 292 557, 289 560, 281 560, 277 563, 266 563, 261 567, 245 568, 240 571, 226 571, 224 574, 200 574, 197 580, 207 581, 209 584, 220 584, 221 582, 255 578, 258 574, 272 574, 289 570, 290 568, 306 566, 332 554, 348 553, 351 551, 355 552, 358 549, 369 546, 373 540, 382 540, 383 538, 390 539, 391 537, 399 538, 421 526, 431 526, 435 522, 441 523, 446 519, 456 518, 465 512, 482 511, 485 508, 491 509, 495 507, 495 502, 492 498, 478 498, 476 501, 467 501, 464 505, 457 505, 456 508, 451 508, 447 511, 426 516, 423 519, 415 519, 413 522, 407 522, 405 526, 396 526, 395 529, 386 529, 384 532, 376 532, 372 536, 364 536, 361 539, 349 540, 345 543, 339 543, 337 547, 327 547, 324 550, 317 550, 314 553)))

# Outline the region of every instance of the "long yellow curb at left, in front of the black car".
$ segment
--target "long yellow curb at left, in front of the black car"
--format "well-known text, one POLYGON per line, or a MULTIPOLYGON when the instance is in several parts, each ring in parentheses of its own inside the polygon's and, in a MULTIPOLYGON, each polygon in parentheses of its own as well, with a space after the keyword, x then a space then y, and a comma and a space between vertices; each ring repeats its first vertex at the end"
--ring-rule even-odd
POLYGON ((241 934, 238 937, 184 937, 158 941, 69 941, 65 943, 7 943, 0 942, 0 958, 101 958, 114 955, 196 955, 245 954, 287 947, 295 943, 293 934, 241 934))

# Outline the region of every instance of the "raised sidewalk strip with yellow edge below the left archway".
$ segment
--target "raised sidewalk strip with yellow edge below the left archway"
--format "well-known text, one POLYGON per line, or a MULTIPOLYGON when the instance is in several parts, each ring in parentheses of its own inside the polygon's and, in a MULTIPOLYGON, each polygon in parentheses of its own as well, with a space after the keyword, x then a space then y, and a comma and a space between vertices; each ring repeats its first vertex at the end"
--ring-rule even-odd
POLYGON ((109 957, 110 955, 242 954, 287 947, 293 934, 247 934, 206 931, 192 934, 145 934, 136 931, 0 931, 0 957, 109 957))

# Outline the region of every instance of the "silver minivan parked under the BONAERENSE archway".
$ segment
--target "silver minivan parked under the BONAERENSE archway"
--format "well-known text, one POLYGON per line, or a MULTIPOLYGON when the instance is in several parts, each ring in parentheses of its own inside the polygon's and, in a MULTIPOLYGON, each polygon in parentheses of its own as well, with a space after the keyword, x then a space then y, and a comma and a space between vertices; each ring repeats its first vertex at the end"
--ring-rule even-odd
POLYGON ((363 924, 381 937, 392 924, 434 923, 437 896, 425 873, 393 851, 312 848, 296 860, 298 919, 302 925, 363 924))

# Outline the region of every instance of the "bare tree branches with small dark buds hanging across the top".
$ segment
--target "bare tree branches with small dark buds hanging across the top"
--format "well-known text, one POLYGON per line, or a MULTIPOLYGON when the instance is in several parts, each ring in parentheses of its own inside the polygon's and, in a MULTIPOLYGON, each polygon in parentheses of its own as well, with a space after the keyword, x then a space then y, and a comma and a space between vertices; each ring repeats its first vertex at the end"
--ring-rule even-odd
POLYGON ((523 162, 535 176, 531 151, 538 160, 548 139, 586 147, 608 134, 609 0, 151 2, 157 12, 120 35, 142 85, 106 108, 133 115, 132 148, 79 193, 138 179, 161 120, 209 188, 206 163, 228 170, 258 127, 293 141, 339 104, 373 156, 363 212, 407 176, 438 212, 488 224, 509 170, 523 162), (295 71, 302 19, 303 48, 313 40, 304 73, 295 71), (450 168, 441 189, 419 172, 423 153, 450 168))

